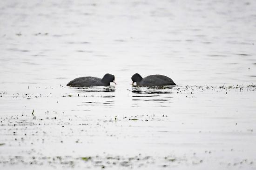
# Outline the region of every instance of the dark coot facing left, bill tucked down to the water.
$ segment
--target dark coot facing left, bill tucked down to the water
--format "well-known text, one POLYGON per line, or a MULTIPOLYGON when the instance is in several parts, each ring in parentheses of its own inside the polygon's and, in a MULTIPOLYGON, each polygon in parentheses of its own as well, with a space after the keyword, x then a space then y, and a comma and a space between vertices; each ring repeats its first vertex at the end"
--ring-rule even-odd
POLYGON ((145 78, 142 78, 140 74, 135 73, 132 76, 133 84, 136 82, 136 85, 143 86, 160 86, 160 85, 176 85, 171 78, 168 78, 164 75, 150 75, 145 78))

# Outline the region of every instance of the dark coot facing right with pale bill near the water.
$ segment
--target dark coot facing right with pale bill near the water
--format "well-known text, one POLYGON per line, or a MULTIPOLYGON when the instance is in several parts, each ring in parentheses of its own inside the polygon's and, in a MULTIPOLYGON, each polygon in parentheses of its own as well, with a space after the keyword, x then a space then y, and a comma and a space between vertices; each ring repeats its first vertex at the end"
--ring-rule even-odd
POLYGON ((97 78, 97 77, 75 78, 74 80, 70 81, 67 85, 76 86, 76 87, 101 86, 101 85, 110 85, 110 82, 115 83, 115 76, 107 73, 103 76, 103 78, 97 78))

